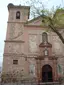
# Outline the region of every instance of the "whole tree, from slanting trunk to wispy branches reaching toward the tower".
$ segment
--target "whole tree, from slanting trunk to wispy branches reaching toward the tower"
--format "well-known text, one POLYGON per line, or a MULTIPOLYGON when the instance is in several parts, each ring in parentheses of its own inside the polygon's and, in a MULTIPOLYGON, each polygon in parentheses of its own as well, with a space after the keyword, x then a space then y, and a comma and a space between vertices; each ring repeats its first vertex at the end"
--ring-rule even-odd
POLYGON ((34 18, 41 16, 42 24, 46 24, 49 29, 55 32, 64 44, 64 37, 59 31, 61 29, 64 29, 64 8, 57 7, 57 9, 49 11, 44 8, 44 5, 39 2, 39 0, 32 0, 31 7, 34 18), (36 4, 38 4, 39 7, 36 4))

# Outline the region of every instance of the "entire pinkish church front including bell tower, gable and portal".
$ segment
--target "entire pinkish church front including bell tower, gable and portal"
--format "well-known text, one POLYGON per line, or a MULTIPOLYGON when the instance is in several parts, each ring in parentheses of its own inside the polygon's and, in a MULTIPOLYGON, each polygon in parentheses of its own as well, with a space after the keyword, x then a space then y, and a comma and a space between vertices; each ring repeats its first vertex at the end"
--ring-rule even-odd
MULTIPOLYGON (((9 4, 8 11, 2 74, 15 71, 41 82, 57 81, 64 73, 64 46, 59 37, 46 31, 41 17, 29 20, 29 6, 9 4)), ((59 31, 64 35, 63 29, 59 31)))

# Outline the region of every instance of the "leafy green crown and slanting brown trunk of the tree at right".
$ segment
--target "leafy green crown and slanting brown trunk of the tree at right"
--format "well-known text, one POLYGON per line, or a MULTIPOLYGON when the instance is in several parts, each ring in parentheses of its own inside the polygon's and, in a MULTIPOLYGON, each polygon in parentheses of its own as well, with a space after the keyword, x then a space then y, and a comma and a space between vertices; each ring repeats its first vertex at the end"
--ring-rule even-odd
POLYGON ((63 8, 56 9, 52 16, 44 12, 42 16, 42 22, 44 24, 47 23, 47 26, 58 35, 58 37, 64 44, 64 37, 59 32, 59 29, 64 28, 64 9, 63 8))

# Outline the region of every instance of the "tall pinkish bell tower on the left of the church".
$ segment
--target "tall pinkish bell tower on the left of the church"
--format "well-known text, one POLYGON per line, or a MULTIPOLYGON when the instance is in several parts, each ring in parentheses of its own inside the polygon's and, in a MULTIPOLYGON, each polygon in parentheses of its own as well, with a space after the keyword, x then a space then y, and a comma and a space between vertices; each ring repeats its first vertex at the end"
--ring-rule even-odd
MULTIPOLYGON (((22 60, 25 60, 24 52, 24 23, 29 18, 29 6, 8 4, 7 34, 4 47, 3 71, 12 72, 23 70, 22 60), (20 62, 21 61, 21 62, 20 62)), ((24 62, 23 62, 24 63, 24 62)), ((26 65, 25 65, 26 66, 26 65)), ((27 68, 27 66, 25 67, 27 68)))

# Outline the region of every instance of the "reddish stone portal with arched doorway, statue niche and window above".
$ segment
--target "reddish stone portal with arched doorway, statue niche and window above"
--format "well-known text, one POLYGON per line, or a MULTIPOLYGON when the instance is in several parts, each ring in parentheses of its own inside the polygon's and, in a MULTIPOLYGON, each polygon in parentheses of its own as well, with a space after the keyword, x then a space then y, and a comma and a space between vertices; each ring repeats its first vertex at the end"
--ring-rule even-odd
POLYGON ((52 44, 48 42, 45 32, 42 34, 42 43, 39 45, 39 50, 39 56, 36 58, 38 81, 57 81, 57 57, 52 55, 52 44))

